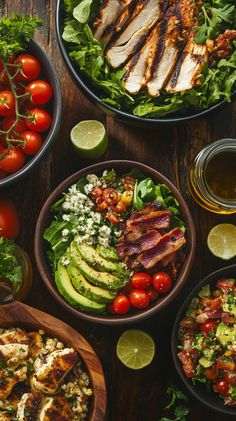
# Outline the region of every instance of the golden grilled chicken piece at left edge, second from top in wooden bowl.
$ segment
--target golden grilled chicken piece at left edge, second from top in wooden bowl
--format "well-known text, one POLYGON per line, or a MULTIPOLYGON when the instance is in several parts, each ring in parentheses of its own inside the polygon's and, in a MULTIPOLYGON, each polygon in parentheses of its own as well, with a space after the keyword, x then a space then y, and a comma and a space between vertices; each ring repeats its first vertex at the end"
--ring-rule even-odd
POLYGON ((29 345, 6 344, 0 345, 0 360, 12 369, 24 362, 28 357, 29 345))

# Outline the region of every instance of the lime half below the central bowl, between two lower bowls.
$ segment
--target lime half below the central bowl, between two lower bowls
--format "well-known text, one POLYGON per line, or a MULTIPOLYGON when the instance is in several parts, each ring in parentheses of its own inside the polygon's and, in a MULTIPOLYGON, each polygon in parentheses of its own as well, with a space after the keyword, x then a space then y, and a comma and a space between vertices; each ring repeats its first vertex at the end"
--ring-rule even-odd
POLYGON ((139 370, 149 365, 155 355, 155 343, 142 330, 126 330, 119 338, 116 354, 126 367, 139 370))

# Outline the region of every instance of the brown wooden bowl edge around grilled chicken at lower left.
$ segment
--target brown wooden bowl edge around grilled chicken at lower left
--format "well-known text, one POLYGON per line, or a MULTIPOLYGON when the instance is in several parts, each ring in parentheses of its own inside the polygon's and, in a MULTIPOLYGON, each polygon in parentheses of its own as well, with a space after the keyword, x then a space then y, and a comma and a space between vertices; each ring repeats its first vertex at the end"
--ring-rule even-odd
POLYGON ((8 326, 43 329, 50 336, 73 347, 79 353, 91 380, 93 398, 89 421, 103 421, 107 400, 104 373, 95 351, 84 337, 61 320, 18 301, 0 306, 0 327, 8 326))

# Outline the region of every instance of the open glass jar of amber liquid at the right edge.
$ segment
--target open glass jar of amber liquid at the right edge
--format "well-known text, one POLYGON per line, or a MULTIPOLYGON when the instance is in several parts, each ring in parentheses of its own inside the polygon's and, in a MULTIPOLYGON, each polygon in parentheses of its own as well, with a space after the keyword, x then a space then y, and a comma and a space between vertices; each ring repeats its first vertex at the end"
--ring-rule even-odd
MULTIPOLYGON (((206 170, 209 163, 213 158, 216 158, 216 156, 222 155, 222 153, 231 154, 231 156, 234 156, 232 154, 235 154, 236 159, 236 139, 217 140, 203 148, 194 159, 190 168, 188 186, 194 200, 203 208, 219 214, 232 214, 236 213, 236 199, 219 197, 219 195, 216 195, 209 187, 206 180, 206 170)), ((234 171, 235 173, 232 174, 232 176, 235 179, 236 166, 234 171)), ((218 172, 218 178, 219 175, 220 177, 224 177, 224 174, 220 174, 220 172, 218 172)), ((222 180, 224 179, 222 178, 222 180)), ((236 192, 236 186, 233 187, 236 192)))

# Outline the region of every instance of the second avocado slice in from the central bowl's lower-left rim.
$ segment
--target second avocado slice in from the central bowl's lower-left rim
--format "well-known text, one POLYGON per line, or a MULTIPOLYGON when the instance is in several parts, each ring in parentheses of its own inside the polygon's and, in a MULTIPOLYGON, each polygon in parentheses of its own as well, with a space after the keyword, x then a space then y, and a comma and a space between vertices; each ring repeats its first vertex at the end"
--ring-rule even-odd
POLYGON ((73 287, 84 297, 98 303, 110 303, 114 300, 116 293, 91 285, 73 264, 69 264, 67 271, 73 287))

